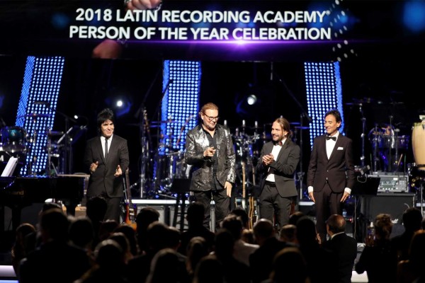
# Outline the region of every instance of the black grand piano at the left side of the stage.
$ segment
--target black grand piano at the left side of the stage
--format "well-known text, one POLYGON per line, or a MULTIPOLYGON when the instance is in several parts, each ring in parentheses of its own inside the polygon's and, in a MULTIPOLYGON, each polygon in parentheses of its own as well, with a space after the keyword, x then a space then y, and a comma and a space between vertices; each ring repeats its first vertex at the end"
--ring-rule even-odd
POLYGON ((85 175, 57 177, 0 177, 0 231, 4 231, 4 207, 12 212, 12 229, 21 224, 21 209, 48 199, 61 201, 74 215, 84 197, 85 175))

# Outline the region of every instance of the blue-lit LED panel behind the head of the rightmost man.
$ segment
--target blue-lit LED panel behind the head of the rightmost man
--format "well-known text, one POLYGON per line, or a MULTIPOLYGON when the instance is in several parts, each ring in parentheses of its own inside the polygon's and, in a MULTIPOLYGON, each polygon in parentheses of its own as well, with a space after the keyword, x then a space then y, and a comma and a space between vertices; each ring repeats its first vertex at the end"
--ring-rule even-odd
POLYGON ((341 76, 339 62, 306 62, 304 69, 308 115, 312 118, 312 122, 310 122, 310 147, 312 147, 314 137, 325 132, 324 115, 330 109, 337 109, 341 112, 342 123, 339 132, 344 134, 341 76))

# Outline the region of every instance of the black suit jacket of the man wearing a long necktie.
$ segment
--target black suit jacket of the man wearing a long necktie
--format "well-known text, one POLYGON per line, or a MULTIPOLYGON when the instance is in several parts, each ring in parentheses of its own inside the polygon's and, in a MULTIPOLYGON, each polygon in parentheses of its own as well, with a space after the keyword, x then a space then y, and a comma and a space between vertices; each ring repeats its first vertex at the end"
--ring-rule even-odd
POLYGON ((84 168, 90 171, 90 164, 96 161, 98 161, 98 168, 90 175, 87 197, 101 195, 103 192, 106 192, 108 197, 123 197, 123 175, 129 163, 127 140, 114 134, 108 151, 108 160, 105 161, 101 138, 89 139, 84 152, 84 168), (115 178, 114 174, 118 165, 123 175, 115 178))

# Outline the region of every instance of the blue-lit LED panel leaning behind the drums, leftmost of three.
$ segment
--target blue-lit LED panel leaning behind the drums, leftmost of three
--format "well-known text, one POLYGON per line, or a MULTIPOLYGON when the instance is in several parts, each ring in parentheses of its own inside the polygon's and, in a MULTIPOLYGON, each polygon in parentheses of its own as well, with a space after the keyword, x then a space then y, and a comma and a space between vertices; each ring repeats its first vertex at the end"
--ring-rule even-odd
MULTIPOLYGON (((64 57, 28 57, 16 126, 26 131, 21 175, 46 175, 47 132, 52 130, 64 57)), ((47 174, 48 175, 48 174, 47 174)))

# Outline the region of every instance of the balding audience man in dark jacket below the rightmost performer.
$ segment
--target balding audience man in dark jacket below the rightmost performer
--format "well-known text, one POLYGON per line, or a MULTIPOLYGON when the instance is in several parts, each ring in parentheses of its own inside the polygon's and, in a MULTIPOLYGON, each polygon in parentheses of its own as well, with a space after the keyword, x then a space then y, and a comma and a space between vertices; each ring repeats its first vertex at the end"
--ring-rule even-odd
POLYGON ((323 243, 323 247, 331 250, 336 257, 338 268, 336 282, 351 283, 354 260, 357 256, 357 241, 345 233, 346 221, 344 216, 332 214, 326 221, 327 233, 330 241, 323 243))

